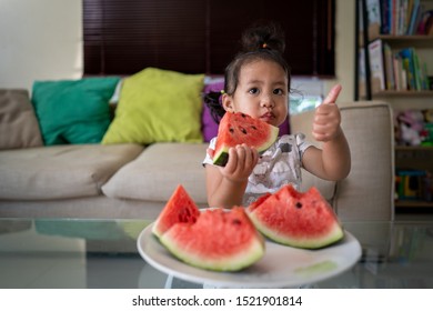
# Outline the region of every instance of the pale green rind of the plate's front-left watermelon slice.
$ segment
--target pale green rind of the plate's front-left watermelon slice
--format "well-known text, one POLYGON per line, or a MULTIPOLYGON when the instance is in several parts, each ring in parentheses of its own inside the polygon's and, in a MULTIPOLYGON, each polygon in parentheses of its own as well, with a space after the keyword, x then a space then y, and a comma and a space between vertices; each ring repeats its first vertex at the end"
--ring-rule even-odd
POLYGON ((223 260, 205 258, 185 250, 184 245, 175 243, 170 231, 160 238, 161 243, 179 260, 200 269, 234 272, 252 265, 264 255, 264 243, 256 238, 252 239, 242 252, 226 257, 223 260))

